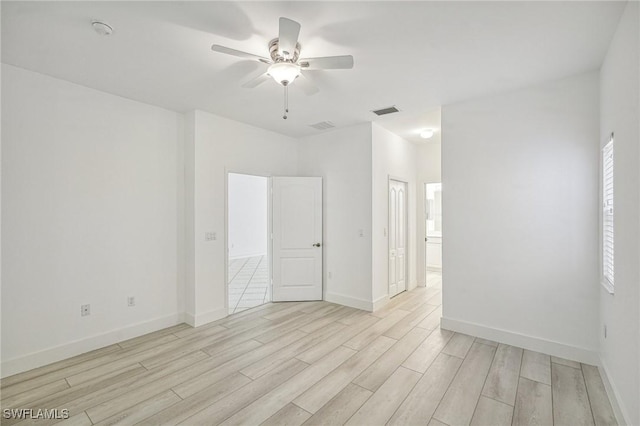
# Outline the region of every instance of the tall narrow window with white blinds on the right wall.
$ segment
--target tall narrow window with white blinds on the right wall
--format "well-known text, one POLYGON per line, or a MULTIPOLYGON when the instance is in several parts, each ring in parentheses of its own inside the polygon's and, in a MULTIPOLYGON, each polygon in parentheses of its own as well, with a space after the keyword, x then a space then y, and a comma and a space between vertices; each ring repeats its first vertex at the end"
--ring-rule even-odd
POLYGON ((602 285, 613 294, 613 134, 602 148, 602 285))

